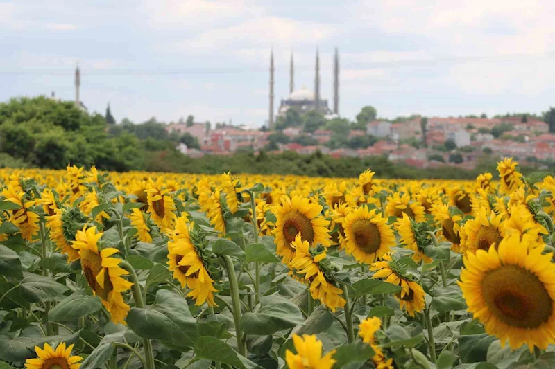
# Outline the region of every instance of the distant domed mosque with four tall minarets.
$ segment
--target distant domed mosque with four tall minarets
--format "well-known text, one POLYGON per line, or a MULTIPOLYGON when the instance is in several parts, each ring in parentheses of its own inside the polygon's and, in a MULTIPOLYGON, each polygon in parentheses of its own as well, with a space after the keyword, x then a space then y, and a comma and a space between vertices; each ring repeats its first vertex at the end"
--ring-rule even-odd
MULTIPOLYGON (((333 109, 328 107, 327 100, 323 99, 320 94, 320 57, 316 51, 316 75, 314 77, 314 91, 309 91, 305 87, 295 89, 294 83, 294 63, 293 54, 291 54, 291 64, 289 66, 289 96, 281 100, 278 116, 284 116, 289 109, 296 109, 300 113, 311 110, 320 111, 327 118, 339 116, 339 53, 337 48, 334 55, 334 101, 333 109)), ((274 64, 273 52, 270 55, 270 108, 268 111, 268 128, 273 129, 274 113, 274 64)))

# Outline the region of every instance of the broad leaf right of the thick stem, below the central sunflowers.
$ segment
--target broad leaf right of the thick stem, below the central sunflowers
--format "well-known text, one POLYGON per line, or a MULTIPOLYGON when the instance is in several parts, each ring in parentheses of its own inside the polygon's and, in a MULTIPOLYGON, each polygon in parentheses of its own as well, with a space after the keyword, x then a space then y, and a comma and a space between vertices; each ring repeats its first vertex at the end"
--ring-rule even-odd
POLYGON ((262 296, 260 305, 257 311, 241 316, 241 327, 246 334, 267 336, 305 321, 298 306, 281 296, 262 296))

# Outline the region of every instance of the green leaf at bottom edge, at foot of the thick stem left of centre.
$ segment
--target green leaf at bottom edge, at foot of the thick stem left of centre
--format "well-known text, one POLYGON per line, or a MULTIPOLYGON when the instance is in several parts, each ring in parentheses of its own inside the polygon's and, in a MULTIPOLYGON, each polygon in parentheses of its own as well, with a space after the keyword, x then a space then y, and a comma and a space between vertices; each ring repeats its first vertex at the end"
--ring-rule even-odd
POLYGON ((211 359, 237 368, 262 369, 260 366, 257 366, 256 363, 253 363, 253 361, 237 354, 230 345, 215 337, 199 337, 198 349, 195 353, 197 357, 211 359))

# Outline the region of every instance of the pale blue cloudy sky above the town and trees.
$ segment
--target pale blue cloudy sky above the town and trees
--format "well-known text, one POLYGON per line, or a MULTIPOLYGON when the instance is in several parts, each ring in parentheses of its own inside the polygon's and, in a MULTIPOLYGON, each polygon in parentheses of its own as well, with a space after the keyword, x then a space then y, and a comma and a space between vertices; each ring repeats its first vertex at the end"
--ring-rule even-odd
POLYGON ((0 101, 81 100, 119 121, 268 120, 269 56, 275 111, 296 88, 332 106, 339 48, 341 116, 365 105, 380 117, 459 116, 555 105, 552 0, 0 0, 0 101))

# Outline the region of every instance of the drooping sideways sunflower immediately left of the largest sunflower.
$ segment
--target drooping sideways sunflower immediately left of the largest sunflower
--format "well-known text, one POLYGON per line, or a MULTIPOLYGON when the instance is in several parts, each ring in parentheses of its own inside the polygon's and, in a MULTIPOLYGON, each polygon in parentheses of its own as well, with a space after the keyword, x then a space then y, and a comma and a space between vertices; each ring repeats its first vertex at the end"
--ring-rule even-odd
POLYGON ((414 316, 415 312, 422 312, 425 308, 422 286, 404 276, 398 264, 391 258, 391 253, 384 255, 383 259, 370 266, 371 271, 376 271, 372 279, 386 278, 386 282, 400 286, 401 291, 395 294, 395 300, 398 300, 401 309, 406 309, 410 316, 414 316))

